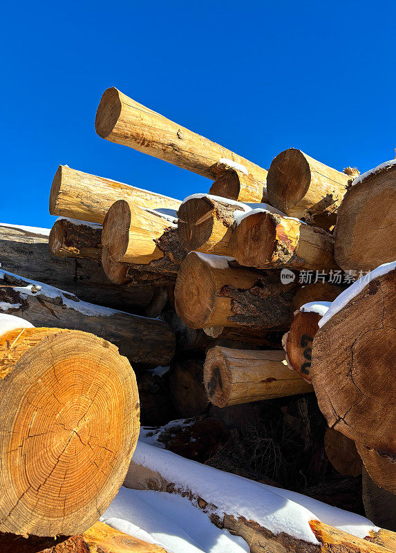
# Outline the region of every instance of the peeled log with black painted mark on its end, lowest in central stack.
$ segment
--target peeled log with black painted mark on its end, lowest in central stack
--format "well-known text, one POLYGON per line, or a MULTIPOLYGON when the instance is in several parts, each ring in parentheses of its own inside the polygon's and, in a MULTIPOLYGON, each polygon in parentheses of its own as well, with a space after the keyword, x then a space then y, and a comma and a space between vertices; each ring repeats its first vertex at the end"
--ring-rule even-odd
POLYGON ((216 346, 207 352, 204 384, 218 407, 312 392, 312 386, 288 370, 283 351, 236 350, 216 346))

